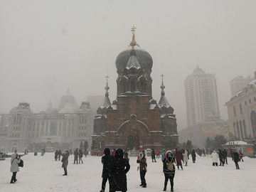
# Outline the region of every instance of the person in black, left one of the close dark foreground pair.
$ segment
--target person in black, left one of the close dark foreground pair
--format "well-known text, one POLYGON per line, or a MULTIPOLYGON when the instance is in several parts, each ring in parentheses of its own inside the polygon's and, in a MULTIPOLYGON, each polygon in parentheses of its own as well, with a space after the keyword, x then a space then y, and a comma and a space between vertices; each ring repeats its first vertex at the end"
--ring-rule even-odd
POLYGON ((102 156, 102 164, 103 164, 103 169, 102 169, 102 189, 100 192, 104 192, 105 191, 105 187, 106 187, 106 183, 107 183, 107 179, 109 180, 110 183, 110 192, 114 192, 112 191, 113 186, 112 186, 112 182, 113 182, 113 163, 114 163, 114 156, 110 155, 110 149, 106 148, 104 149, 104 156, 102 156))

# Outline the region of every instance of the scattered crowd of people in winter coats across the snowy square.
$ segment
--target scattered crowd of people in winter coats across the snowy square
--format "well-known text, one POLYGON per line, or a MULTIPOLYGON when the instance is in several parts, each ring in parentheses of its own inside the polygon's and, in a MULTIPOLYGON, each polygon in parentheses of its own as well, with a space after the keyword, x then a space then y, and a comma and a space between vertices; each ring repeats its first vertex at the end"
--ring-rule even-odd
MULTIPOLYGON (((74 155, 74 164, 78 164, 78 158, 79 158, 79 164, 80 162, 83 164, 82 156, 87 155, 87 151, 82 151, 82 149, 75 149, 74 152, 72 150, 65 150, 64 153, 62 153, 61 150, 55 151, 54 159, 55 161, 60 161, 60 156, 63 156, 61 159, 62 167, 64 169, 63 176, 68 175, 68 158, 70 154, 74 155)), ((167 184, 170 181, 171 183, 171 191, 174 191, 174 176, 176 167, 179 170, 183 170, 183 164, 185 166, 188 166, 188 159, 189 155, 191 154, 191 158, 193 163, 196 163, 196 154, 198 154, 198 151, 188 149, 174 149, 174 151, 171 151, 170 149, 164 149, 163 153, 160 155, 159 149, 151 149, 151 160, 152 162, 156 162, 156 158, 161 158, 162 164, 163 164, 163 173, 164 173, 164 190, 166 191, 167 184), (183 162, 183 164, 181 163, 183 162), (175 165, 176 164, 176 167, 175 165)), ((202 150, 202 154, 204 154, 202 150)), ((202 155, 201 154, 201 155, 202 155)), ((238 162, 243 161, 242 159, 242 151, 239 151, 239 153, 235 150, 228 150, 225 149, 221 150, 218 149, 218 152, 213 150, 213 153, 210 154, 212 160, 213 160, 213 166, 218 166, 218 161, 220 161, 219 166, 224 166, 224 164, 228 164, 227 156, 228 154, 231 155, 233 161, 235 162, 236 169, 240 169, 238 162)), ((131 155, 131 152, 129 149, 123 150, 123 149, 113 149, 110 151, 109 148, 105 148, 104 155, 102 156, 102 187, 100 192, 105 192, 105 186, 107 183, 107 180, 109 181, 110 186, 110 192, 115 191, 127 191, 127 172, 130 169, 129 165, 129 157, 131 155)), ((18 156, 17 153, 11 155, 11 169, 10 171, 13 173, 11 176, 11 182, 15 183, 17 181, 16 174, 19 171, 18 164, 21 162, 21 157, 18 156)), ((137 164, 139 164, 137 171, 139 171, 141 183, 139 186, 142 186, 142 188, 146 188, 146 172, 147 172, 147 162, 146 162, 146 152, 143 149, 139 150, 139 156, 137 157, 137 164)))

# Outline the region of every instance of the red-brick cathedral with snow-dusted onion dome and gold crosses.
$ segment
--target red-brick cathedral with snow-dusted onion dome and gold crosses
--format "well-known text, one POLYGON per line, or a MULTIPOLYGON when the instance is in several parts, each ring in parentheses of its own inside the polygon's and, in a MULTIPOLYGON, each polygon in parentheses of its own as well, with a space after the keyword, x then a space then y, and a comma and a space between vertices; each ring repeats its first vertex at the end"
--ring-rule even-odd
MULTIPOLYGON (((176 115, 164 93, 162 75, 161 99, 152 97, 151 55, 139 48, 132 28, 132 42, 117 55, 117 99, 105 99, 97 109, 92 134, 92 154, 110 149, 174 149, 178 144, 176 115)), ((108 77, 106 77, 108 78, 108 77)))

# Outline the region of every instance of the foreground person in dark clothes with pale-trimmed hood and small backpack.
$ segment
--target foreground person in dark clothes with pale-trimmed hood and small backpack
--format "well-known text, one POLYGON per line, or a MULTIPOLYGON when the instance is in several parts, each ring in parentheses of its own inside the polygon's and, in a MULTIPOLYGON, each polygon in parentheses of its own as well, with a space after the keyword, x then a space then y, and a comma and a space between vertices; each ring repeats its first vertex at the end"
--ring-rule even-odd
POLYGON ((171 154, 171 151, 166 151, 166 158, 163 161, 163 172, 164 172, 164 190, 166 191, 166 186, 168 180, 171 182, 171 191, 174 191, 174 176, 175 176, 175 157, 171 154), (168 165, 172 164, 172 169, 168 169, 168 165))

